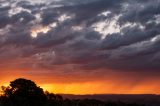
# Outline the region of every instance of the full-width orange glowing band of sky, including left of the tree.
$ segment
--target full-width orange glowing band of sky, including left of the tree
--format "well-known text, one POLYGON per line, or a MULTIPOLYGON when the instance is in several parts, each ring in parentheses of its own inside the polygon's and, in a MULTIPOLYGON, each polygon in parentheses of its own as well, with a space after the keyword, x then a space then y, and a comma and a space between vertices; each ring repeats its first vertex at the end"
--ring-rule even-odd
POLYGON ((38 86, 58 94, 160 94, 160 80, 145 79, 142 81, 132 81, 128 77, 119 76, 106 77, 102 80, 91 80, 89 77, 84 81, 76 81, 77 77, 63 77, 62 79, 56 76, 35 76, 27 75, 26 72, 1 72, 0 73, 0 86, 9 85, 10 81, 16 78, 26 78, 34 81, 38 86), (66 78, 66 79, 65 79, 66 78), (108 78, 108 79, 107 79, 108 78), (126 78, 123 79, 122 78, 126 78), (74 81, 74 82, 73 82, 74 81))

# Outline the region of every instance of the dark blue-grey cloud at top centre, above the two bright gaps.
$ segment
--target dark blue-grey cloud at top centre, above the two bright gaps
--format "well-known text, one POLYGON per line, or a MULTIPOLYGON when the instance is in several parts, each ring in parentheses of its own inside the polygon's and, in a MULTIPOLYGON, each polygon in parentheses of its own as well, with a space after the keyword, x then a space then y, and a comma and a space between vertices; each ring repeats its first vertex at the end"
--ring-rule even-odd
POLYGON ((79 5, 67 5, 58 8, 49 8, 44 10, 42 15, 44 24, 49 24, 56 21, 60 14, 74 14, 75 17, 71 23, 80 24, 93 20, 95 16, 104 11, 111 11, 112 14, 118 13, 121 8, 121 1, 117 0, 100 0, 89 3, 82 3, 79 5), (117 2, 117 3, 115 3, 117 2))

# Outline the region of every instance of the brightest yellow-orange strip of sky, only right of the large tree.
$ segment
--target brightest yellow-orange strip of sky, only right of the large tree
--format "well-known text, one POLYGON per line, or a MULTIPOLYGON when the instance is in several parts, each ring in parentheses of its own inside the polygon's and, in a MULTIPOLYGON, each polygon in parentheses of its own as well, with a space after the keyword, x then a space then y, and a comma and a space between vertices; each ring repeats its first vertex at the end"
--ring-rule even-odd
POLYGON ((133 87, 116 86, 105 83, 79 83, 79 84, 42 84, 44 90, 59 94, 160 94, 160 86, 137 85, 133 87))

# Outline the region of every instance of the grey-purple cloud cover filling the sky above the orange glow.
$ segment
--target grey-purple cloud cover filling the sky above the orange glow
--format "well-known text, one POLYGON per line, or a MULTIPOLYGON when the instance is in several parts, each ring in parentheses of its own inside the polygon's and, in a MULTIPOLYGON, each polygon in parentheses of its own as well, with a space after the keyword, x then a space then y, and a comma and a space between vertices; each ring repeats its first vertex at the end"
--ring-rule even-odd
POLYGON ((158 0, 2 3, 9 5, 0 5, 0 60, 18 59, 23 66, 46 70, 72 64, 84 72, 159 74, 158 0))

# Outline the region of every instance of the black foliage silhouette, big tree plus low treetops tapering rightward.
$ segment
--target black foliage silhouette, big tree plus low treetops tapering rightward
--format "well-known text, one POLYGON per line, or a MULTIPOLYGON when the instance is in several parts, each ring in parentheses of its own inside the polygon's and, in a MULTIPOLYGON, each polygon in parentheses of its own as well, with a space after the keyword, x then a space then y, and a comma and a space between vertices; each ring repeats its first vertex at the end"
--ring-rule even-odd
POLYGON ((44 92, 33 81, 23 78, 10 82, 8 87, 2 86, 2 93, 0 106, 144 106, 95 99, 63 99, 61 95, 44 92))

